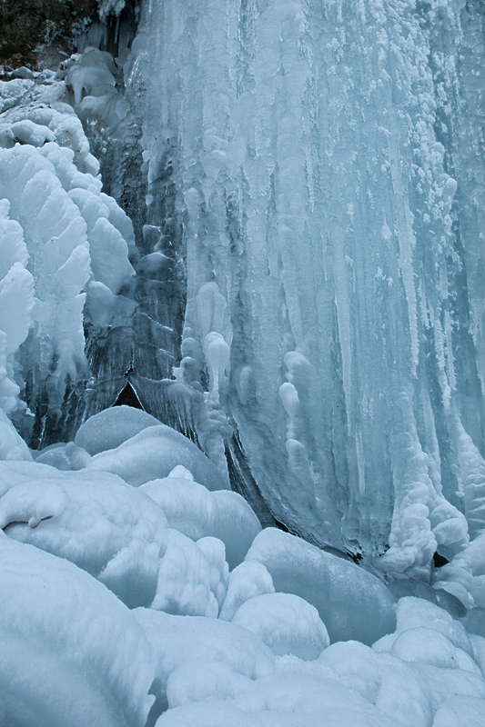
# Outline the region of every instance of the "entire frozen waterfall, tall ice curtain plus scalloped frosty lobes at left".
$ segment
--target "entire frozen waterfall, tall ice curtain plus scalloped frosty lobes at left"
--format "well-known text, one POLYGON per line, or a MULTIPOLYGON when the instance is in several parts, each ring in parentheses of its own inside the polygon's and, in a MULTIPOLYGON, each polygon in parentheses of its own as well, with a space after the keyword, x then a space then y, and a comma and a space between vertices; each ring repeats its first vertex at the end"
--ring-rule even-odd
POLYGON ((264 524, 428 580, 485 522, 482 5, 100 15, 4 84, 3 409, 43 447, 136 403, 264 524))

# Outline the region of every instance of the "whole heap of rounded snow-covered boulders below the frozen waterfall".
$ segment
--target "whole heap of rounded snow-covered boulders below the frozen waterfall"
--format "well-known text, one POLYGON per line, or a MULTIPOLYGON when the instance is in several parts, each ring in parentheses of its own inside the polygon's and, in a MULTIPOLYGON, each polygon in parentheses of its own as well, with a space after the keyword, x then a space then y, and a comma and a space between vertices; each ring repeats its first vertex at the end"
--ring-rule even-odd
MULTIPOLYGON (((143 468, 127 414, 88 421, 86 440, 128 436, 120 447, 143 468)), ((69 444, 37 456, 64 452, 62 466, 26 461, 17 440, 3 437, 0 462, 2 723, 483 724, 476 619, 420 598, 395 605, 357 565, 258 532, 240 496, 194 481, 190 451, 177 450, 169 477, 136 487, 89 465, 68 471, 69 444)), ((98 456, 72 447, 87 463, 98 456)))

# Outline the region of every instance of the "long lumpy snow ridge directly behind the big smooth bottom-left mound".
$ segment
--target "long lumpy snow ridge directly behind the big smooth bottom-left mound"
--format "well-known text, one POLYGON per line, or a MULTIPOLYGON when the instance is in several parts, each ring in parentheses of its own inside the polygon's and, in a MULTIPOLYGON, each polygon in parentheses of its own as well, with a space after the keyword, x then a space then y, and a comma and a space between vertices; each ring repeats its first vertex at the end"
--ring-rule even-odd
POLYGON ((131 608, 217 618, 228 579, 217 538, 168 528, 157 503, 111 473, 0 463, 0 476, 9 537, 76 563, 131 608))

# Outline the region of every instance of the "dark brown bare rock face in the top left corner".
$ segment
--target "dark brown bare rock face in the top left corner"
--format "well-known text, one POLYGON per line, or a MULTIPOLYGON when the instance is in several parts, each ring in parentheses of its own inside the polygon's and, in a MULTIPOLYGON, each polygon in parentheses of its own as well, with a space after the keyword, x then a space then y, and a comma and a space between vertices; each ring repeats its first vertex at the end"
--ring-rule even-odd
POLYGON ((4 0, 0 5, 0 64, 57 65, 76 50, 76 36, 96 14, 96 0, 4 0))

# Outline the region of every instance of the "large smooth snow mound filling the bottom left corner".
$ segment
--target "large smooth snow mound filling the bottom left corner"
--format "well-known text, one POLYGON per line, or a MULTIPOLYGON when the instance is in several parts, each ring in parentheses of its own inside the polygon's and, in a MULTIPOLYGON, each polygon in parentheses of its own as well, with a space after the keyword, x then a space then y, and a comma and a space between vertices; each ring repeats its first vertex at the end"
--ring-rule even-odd
POLYGON ((144 727, 150 646, 133 614, 72 563, 0 533, 0 722, 144 727))

